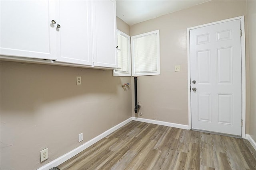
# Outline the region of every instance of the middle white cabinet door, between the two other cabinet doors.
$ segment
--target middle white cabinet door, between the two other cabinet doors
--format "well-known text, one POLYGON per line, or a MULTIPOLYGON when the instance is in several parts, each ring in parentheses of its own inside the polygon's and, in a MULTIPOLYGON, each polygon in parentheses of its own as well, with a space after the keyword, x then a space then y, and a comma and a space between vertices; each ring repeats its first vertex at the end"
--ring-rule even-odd
POLYGON ((60 0, 60 47, 57 61, 92 65, 90 1, 60 0))

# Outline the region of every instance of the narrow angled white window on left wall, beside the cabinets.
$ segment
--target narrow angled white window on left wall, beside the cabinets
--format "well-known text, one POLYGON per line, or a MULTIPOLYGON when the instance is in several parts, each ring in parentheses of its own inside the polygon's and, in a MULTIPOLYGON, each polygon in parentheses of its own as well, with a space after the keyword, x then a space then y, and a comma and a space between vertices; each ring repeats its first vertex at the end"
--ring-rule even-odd
POLYGON ((118 68, 121 69, 114 70, 113 75, 131 76, 130 36, 117 30, 117 45, 118 68))

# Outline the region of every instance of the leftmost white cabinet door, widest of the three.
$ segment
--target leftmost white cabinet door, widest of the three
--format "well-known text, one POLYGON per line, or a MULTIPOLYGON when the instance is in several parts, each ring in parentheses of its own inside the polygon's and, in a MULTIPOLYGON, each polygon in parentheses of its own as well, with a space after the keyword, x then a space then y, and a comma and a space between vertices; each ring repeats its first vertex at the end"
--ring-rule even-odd
POLYGON ((0 55, 56 59, 52 0, 1 0, 0 55))

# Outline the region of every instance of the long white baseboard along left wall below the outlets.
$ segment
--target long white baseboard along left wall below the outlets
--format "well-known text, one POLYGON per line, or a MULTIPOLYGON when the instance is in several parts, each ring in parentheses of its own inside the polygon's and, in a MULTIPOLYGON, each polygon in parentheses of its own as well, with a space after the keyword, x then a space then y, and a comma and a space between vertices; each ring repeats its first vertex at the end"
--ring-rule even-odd
POLYGON ((75 156, 76 154, 82 152, 83 150, 85 150, 86 148, 90 147, 91 145, 93 145, 94 143, 100 141, 100 139, 103 139, 104 137, 108 136, 110 133, 116 131, 117 129, 119 129, 120 127, 126 125, 127 123, 129 123, 130 121, 132 121, 132 117, 130 117, 129 119, 126 119, 125 121, 119 123, 118 125, 108 129, 107 131, 105 131, 104 133, 98 135, 97 137, 91 139, 90 141, 84 143, 83 145, 77 147, 74 150, 71 150, 70 152, 60 156, 59 158, 53 160, 52 162, 49 162, 48 164, 38 168, 38 170, 49 170, 50 168, 56 167, 60 164, 62 164, 63 162, 65 162, 66 160, 72 158, 73 156, 75 156))

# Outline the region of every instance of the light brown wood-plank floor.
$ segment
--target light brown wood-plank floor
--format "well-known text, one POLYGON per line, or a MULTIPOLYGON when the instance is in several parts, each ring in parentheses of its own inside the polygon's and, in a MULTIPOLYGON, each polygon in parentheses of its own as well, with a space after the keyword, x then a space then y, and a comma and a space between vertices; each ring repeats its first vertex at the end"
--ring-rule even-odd
POLYGON ((131 121, 60 170, 256 170, 247 140, 131 121))

